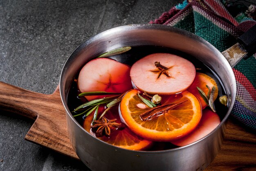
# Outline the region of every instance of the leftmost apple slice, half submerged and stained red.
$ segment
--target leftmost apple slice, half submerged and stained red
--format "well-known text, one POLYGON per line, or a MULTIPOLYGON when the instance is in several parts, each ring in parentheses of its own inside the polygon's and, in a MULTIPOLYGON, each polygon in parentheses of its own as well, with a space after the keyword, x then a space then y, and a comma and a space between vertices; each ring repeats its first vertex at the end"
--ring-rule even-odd
MULTIPOLYGON (((109 58, 97 58, 85 64, 81 69, 77 83, 78 89, 82 93, 91 91, 124 93, 132 89, 129 74, 128 65, 109 58)), ((102 97, 104 96, 86 96, 87 100, 102 97)))

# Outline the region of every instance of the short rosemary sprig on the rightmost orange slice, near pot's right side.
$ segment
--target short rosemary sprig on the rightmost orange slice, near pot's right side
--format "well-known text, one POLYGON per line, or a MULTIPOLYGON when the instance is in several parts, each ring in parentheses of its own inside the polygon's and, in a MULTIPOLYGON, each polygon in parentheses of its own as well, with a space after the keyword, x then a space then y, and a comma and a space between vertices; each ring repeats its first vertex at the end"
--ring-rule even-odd
POLYGON ((207 95, 204 93, 204 91, 202 91, 202 89, 200 89, 199 87, 196 87, 198 89, 199 94, 201 95, 202 99, 204 100, 204 102, 211 108, 211 110, 213 112, 216 112, 216 110, 214 109, 213 106, 213 95, 214 92, 216 90, 216 87, 213 86, 212 89, 210 89, 210 87, 208 85, 206 85, 206 87, 208 88, 208 93, 207 95))

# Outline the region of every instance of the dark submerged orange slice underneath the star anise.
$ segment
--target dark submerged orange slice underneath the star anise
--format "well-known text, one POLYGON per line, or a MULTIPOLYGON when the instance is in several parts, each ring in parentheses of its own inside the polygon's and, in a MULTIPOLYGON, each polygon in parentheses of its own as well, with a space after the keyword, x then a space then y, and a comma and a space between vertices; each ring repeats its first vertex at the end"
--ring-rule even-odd
MULTIPOLYGON (((101 109, 99 109, 100 111, 101 109)), ((103 110, 101 110, 103 111, 103 110)), ((118 107, 112 107, 104 116, 108 119, 117 119, 118 123, 121 123, 121 120, 118 115, 118 107)), ((89 115, 85 118, 83 123, 83 128, 95 136, 91 131, 93 115, 89 115)), ((123 123, 119 129, 110 133, 109 137, 103 136, 99 137, 100 140, 107 142, 108 144, 115 145, 120 148, 130 149, 130 150, 146 150, 153 144, 152 141, 145 140, 144 138, 139 137, 123 123)))

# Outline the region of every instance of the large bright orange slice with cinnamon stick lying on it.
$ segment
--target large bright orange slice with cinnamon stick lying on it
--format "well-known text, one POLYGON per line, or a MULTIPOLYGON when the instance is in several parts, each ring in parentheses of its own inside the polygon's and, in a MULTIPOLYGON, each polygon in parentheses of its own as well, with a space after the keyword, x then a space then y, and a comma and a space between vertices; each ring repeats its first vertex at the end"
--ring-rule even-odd
POLYGON ((137 135, 153 141, 170 141, 190 133, 202 116, 197 98, 188 91, 177 95, 162 97, 162 104, 172 104, 186 100, 167 113, 151 120, 143 121, 140 114, 149 108, 141 109, 137 104, 143 103, 133 89, 126 93, 120 104, 121 117, 128 127, 137 135))

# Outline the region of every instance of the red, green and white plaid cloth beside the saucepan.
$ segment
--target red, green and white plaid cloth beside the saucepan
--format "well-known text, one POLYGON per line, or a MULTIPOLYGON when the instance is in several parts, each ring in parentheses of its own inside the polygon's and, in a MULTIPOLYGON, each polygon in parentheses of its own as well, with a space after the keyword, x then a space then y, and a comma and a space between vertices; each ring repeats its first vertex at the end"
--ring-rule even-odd
MULTIPOLYGON (((234 15, 236 5, 228 1, 185 0, 150 23, 166 24, 190 31, 213 44, 219 51, 224 51, 236 44, 237 38, 256 24, 255 5, 249 6, 244 12, 236 13, 235 18, 227 10, 231 7, 234 15)), ((256 130, 256 54, 247 60, 241 60, 233 71, 237 94, 231 115, 256 130)))

